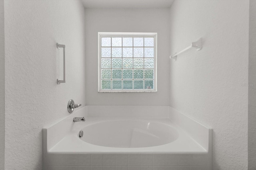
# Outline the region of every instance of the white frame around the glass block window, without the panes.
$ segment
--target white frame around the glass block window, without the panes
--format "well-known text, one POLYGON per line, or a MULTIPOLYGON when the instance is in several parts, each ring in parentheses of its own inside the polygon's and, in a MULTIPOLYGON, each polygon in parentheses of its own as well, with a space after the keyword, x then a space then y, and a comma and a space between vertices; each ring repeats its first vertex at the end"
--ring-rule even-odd
POLYGON ((98 32, 98 92, 157 92, 157 33, 98 32), (150 36, 154 37, 154 89, 101 89, 101 37, 103 36, 150 36))

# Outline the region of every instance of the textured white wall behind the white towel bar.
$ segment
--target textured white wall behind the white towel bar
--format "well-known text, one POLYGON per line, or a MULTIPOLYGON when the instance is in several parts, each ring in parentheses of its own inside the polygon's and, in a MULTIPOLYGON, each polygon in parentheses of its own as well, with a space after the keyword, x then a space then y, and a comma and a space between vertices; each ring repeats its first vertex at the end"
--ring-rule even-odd
POLYGON ((213 170, 248 168, 248 0, 177 0, 170 9, 170 106, 213 128, 213 170))

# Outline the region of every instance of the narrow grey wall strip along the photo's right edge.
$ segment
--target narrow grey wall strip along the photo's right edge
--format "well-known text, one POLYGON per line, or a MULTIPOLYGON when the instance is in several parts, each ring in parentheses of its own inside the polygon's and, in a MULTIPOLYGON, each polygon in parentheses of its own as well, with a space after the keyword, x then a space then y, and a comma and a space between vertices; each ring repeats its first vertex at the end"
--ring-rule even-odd
POLYGON ((256 169, 256 1, 250 0, 248 168, 256 169))

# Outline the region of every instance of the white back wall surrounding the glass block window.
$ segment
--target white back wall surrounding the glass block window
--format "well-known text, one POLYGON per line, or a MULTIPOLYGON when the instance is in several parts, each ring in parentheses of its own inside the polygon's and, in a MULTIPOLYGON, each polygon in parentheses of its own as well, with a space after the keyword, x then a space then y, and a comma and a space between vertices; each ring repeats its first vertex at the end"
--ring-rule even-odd
POLYGON ((86 104, 87 105, 169 105, 168 9, 86 9, 86 104), (156 93, 98 92, 98 32, 157 32, 156 93))

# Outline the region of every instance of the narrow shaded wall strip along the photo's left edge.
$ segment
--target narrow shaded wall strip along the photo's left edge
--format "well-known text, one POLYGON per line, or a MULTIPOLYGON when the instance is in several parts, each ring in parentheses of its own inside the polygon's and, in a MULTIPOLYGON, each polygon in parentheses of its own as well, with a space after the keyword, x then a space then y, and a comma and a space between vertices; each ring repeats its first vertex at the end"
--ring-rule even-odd
POLYGON ((0 0, 0 169, 4 170, 4 1, 0 0))

